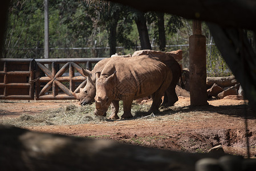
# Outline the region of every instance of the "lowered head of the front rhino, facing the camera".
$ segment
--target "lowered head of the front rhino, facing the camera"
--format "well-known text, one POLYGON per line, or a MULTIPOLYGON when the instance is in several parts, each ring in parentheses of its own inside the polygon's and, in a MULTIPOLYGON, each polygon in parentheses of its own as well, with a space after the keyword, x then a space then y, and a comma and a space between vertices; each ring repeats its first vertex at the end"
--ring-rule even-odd
POLYGON ((94 114, 104 116, 107 112, 111 101, 113 100, 113 88, 116 84, 116 72, 111 76, 100 76, 96 72, 96 96, 95 96, 95 111, 94 114))

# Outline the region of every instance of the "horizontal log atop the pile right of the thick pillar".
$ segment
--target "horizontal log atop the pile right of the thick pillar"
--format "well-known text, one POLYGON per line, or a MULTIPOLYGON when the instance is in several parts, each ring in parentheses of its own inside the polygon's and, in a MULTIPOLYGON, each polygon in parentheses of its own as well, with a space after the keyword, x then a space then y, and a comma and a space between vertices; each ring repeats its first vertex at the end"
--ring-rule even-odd
POLYGON ((206 78, 206 86, 213 86, 216 83, 220 87, 231 87, 237 84, 237 80, 234 75, 225 76, 225 77, 207 77, 206 78))

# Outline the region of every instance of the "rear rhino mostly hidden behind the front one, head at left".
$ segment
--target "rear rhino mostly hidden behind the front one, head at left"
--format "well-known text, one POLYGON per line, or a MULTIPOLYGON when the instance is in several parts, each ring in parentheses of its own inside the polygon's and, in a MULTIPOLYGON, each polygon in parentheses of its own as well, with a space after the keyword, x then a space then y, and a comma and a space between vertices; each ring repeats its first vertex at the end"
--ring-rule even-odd
MULTIPOLYGON (((178 97, 175 92, 176 84, 180 78, 181 75, 181 68, 180 64, 173 58, 173 56, 182 56, 182 51, 172 51, 172 52, 160 52, 160 51, 152 51, 152 50, 141 50, 141 51, 135 51, 132 56, 140 56, 140 55, 148 55, 159 58, 163 63, 168 66, 172 72, 173 72, 173 79, 170 83, 170 86, 168 89, 166 89, 165 96, 164 96, 164 102, 162 105, 165 107, 172 106, 177 100, 178 97)), ((125 56, 128 57, 128 56, 125 56)), ((103 59, 100 62, 98 62, 94 70, 84 70, 83 74, 84 76, 87 76, 87 84, 86 87, 80 88, 79 93, 72 93, 76 99, 79 100, 80 105, 90 104, 92 101, 94 101, 94 97, 96 94, 96 88, 95 88, 95 73, 100 72, 105 64, 108 62, 110 58, 103 59)))

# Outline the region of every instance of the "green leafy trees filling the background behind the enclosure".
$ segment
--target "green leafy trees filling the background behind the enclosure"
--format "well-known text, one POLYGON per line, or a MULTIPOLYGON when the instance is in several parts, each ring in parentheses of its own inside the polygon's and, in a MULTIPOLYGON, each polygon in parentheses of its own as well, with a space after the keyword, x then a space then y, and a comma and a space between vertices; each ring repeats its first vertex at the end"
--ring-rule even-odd
MULTIPOLYGON (((85 1, 49 1, 50 58, 108 57, 109 48, 117 48, 119 54, 133 54, 135 45, 140 46, 140 37, 135 23, 138 11, 116 3, 91 3, 85 1), (111 35, 111 29, 115 30, 111 35), (114 36, 114 37, 113 37, 114 36), (56 48, 90 47, 70 50, 56 48), (101 48, 99 48, 101 47, 101 48)), ((149 39, 153 50, 159 49, 159 26, 157 13, 141 13, 147 19, 149 39)), ((164 15, 167 45, 189 44, 192 21, 170 14, 164 15)), ((202 23, 206 43, 214 43, 208 27, 202 23)), ((248 31, 248 36, 254 35, 248 31)), ((230 75, 217 48, 207 47, 208 76, 230 75)), ((6 31, 5 58, 43 58, 44 5, 42 0, 12 0, 9 25, 6 31)), ((189 47, 170 46, 165 51, 182 50, 182 67, 189 67, 189 47)), ((140 50, 140 49, 137 49, 140 50)))

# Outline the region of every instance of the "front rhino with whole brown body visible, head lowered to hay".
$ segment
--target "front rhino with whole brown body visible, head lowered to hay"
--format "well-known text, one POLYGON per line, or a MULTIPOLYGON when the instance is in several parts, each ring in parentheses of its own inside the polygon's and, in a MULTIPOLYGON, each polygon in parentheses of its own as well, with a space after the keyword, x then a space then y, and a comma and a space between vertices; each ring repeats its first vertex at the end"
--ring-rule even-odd
MULTIPOLYGON (((152 95, 148 113, 158 112, 161 97, 170 86, 172 71, 159 58, 141 55, 113 56, 101 72, 96 72, 95 115, 104 116, 112 101, 123 100, 123 119, 133 117, 132 101, 152 95)), ((119 108, 119 106, 116 106, 119 108)), ((118 109, 116 110, 118 111, 118 109)), ((112 118, 118 118, 112 113, 112 118)))

